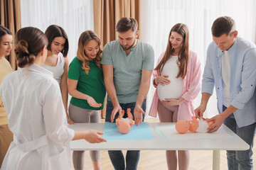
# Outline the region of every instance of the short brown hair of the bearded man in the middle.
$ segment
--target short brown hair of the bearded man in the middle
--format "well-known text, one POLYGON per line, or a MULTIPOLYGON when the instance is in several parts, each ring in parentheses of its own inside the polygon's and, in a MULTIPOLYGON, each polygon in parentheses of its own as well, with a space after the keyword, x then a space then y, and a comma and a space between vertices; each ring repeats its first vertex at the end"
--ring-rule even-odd
POLYGON ((134 18, 123 17, 118 21, 116 29, 118 33, 124 33, 130 29, 132 29, 132 31, 137 31, 138 23, 134 18))

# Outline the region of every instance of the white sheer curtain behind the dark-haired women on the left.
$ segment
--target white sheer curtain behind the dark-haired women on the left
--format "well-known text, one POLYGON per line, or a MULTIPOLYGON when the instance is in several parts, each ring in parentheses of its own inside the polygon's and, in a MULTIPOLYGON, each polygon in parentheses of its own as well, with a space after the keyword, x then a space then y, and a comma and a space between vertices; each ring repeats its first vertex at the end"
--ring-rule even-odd
POLYGON ((93 0, 21 0, 21 28, 33 26, 45 32, 52 24, 67 33, 71 62, 80 34, 93 30, 93 0))

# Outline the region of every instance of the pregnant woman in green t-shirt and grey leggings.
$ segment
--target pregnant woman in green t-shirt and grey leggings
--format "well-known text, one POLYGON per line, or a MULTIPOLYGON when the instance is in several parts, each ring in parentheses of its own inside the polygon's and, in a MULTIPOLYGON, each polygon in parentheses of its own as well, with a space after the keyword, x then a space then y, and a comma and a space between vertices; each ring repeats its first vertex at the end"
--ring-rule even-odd
MULTIPOLYGON (((100 123, 106 89, 100 64, 100 38, 87 30, 78 40, 77 57, 68 70, 68 92, 72 96, 68 112, 75 123, 100 123)), ((90 151, 94 169, 100 167, 100 151, 90 151)), ((73 152, 75 169, 83 169, 84 151, 73 152)))

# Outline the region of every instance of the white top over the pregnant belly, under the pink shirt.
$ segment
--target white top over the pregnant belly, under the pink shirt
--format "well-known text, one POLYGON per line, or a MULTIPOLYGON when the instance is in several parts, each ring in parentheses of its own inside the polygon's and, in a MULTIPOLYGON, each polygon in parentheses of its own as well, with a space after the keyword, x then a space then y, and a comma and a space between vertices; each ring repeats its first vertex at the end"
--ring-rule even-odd
POLYGON ((171 56, 164 64, 163 71, 161 75, 168 75, 168 79, 171 81, 170 84, 162 86, 158 84, 157 94, 161 101, 164 101, 165 98, 181 98, 183 79, 181 77, 176 78, 178 75, 178 65, 176 61, 178 56, 171 56))

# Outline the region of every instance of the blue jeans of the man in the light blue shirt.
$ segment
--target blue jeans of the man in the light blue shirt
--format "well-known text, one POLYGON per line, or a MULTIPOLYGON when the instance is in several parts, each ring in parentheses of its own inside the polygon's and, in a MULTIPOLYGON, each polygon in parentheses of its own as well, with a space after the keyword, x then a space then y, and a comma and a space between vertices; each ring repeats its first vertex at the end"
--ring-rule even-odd
MULTIPOLYGON (((227 109, 223 106, 223 111, 227 109)), ((250 149, 245 151, 227 151, 227 159, 228 159, 228 169, 229 170, 252 170, 252 147, 253 140, 255 137, 255 128, 256 123, 252 125, 247 125, 242 128, 238 128, 238 125, 235 121, 234 114, 225 118, 223 122, 230 130, 235 132, 239 137, 242 138, 248 145, 250 145, 250 149)))

